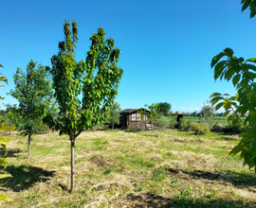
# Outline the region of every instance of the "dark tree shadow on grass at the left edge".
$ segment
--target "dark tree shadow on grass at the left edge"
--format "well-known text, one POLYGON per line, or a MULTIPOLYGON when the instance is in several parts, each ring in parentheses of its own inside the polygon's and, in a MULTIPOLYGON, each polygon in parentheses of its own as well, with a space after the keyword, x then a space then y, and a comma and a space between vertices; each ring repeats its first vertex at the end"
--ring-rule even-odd
POLYGON ((55 171, 47 171, 40 167, 29 165, 8 165, 5 173, 9 173, 13 178, 1 180, 1 186, 19 192, 33 186, 35 182, 50 181, 49 177, 53 177, 55 171))

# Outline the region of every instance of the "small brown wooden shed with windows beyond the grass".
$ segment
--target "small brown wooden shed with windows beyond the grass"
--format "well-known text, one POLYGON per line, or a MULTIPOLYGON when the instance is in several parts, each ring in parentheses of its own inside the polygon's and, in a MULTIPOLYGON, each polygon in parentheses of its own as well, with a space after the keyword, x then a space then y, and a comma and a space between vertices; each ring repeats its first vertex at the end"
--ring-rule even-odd
MULTIPOLYGON (((120 112, 120 125, 122 128, 138 129, 138 130, 153 130, 153 124, 147 120, 147 115, 140 118, 140 109, 125 109, 120 112)), ((146 110, 147 113, 150 111, 146 110)))

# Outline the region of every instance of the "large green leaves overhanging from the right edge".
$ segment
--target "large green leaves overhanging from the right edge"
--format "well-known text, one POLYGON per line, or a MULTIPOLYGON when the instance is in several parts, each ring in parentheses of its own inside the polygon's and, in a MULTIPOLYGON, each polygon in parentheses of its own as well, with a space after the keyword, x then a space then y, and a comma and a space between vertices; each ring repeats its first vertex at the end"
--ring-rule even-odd
MULTIPOLYGON (((250 9, 250 17, 256 14, 256 4, 253 0, 242 0, 243 8, 250 9)), ((211 67, 214 67, 214 78, 225 78, 228 81, 232 79, 232 83, 237 90, 235 96, 228 94, 214 93, 211 102, 213 104, 222 100, 216 105, 216 110, 223 107, 224 115, 229 115, 228 120, 232 121, 233 125, 240 125, 244 128, 244 132, 240 134, 242 137, 240 143, 233 147, 229 154, 234 155, 241 152, 241 158, 244 159, 244 165, 249 168, 255 167, 256 170, 256 59, 237 58, 233 56, 234 52, 230 48, 226 48, 223 52, 215 56, 211 61, 211 67), (227 60, 221 61, 226 57, 227 60), (254 64, 253 64, 254 63, 254 64), (241 119, 248 113, 247 118, 241 119)))

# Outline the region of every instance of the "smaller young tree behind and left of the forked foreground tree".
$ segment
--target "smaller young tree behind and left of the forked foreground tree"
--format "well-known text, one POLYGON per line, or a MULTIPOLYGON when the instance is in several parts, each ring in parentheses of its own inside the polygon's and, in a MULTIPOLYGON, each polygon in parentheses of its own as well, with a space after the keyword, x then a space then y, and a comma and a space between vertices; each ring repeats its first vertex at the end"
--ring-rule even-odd
POLYGON ((30 158, 30 142, 32 134, 38 132, 45 111, 53 104, 53 90, 46 67, 34 61, 27 64, 27 72, 17 68, 13 76, 15 89, 9 95, 19 102, 18 107, 10 108, 15 114, 12 123, 15 129, 28 138, 28 159, 30 158))

